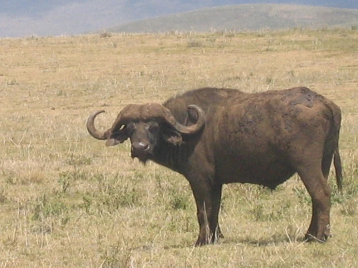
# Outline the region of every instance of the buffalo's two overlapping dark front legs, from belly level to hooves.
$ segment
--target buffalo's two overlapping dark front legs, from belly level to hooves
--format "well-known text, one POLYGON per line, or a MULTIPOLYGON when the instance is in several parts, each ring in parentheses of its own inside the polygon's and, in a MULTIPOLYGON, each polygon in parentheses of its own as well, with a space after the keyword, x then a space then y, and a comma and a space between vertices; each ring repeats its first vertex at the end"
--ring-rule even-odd
POLYGON ((197 206, 199 237, 196 246, 214 243, 221 235, 218 227, 218 212, 222 185, 196 185, 190 183, 197 206))

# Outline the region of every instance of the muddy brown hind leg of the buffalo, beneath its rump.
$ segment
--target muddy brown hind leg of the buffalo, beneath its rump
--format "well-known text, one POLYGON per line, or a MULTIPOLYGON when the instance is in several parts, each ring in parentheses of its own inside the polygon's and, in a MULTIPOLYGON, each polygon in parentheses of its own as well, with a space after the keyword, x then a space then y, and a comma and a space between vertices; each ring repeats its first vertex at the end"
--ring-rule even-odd
POLYGON ((312 218, 306 233, 308 241, 325 242, 330 234, 329 209, 331 190, 322 174, 321 166, 307 165, 298 171, 312 198, 312 218))

